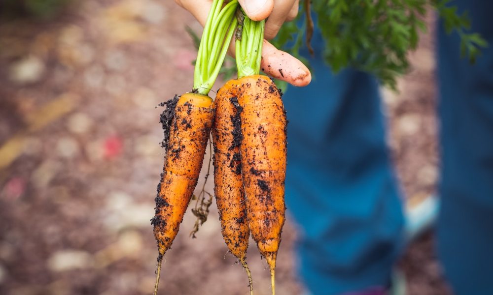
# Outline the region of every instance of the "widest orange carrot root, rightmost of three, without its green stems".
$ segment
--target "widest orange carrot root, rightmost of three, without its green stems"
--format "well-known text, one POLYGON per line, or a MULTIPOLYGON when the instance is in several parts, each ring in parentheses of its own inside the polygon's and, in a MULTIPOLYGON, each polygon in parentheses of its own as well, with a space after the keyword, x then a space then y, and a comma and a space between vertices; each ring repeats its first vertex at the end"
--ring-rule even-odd
POLYGON ((286 115, 280 92, 268 77, 247 76, 238 83, 248 226, 271 270, 275 294, 274 274, 285 211, 286 115))

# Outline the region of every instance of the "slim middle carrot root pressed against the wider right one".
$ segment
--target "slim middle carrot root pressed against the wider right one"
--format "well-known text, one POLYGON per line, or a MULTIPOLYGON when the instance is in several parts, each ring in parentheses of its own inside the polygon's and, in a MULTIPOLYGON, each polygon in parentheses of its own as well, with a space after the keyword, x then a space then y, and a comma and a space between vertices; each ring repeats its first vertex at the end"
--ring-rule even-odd
POLYGON ((245 267, 250 294, 253 282, 246 264, 250 231, 246 220, 245 191, 242 180, 240 113, 236 81, 230 80, 216 94, 215 120, 212 126, 214 145, 214 195, 221 221, 221 232, 229 251, 245 267))

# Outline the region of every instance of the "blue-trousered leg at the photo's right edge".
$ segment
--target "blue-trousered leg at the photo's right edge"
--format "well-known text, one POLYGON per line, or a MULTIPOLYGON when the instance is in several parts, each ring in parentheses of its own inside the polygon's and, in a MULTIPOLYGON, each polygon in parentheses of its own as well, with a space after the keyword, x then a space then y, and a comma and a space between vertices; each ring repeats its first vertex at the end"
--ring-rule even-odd
POLYGON ((490 46, 475 65, 438 28, 442 207, 438 251, 455 294, 493 294, 493 1, 458 0, 490 46))

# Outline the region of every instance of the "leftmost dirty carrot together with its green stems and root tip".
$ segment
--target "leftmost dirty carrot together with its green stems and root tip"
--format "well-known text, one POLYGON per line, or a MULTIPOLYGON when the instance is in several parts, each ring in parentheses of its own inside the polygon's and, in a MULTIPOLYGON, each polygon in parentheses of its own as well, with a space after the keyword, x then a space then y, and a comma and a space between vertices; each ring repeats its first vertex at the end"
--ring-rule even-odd
POLYGON ((204 160, 214 119, 212 99, 207 94, 219 74, 237 24, 234 13, 238 1, 232 0, 224 7, 223 3, 224 0, 212 2, 195 64, 192 92, 168 101, 161 116, 167 153, 157 187, 155 216, 151 219, 159 250, 155 295, 163 256, 178 233, 204 160))

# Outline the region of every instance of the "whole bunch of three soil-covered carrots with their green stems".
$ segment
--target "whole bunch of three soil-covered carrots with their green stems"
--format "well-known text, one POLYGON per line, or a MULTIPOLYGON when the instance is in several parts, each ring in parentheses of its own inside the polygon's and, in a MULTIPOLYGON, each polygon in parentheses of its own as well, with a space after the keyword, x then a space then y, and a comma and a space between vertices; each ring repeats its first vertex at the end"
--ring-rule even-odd
POLYGON ((214 148, 214 195, 222 235, 245 267, 250 234, 271 271, 275 294, 276 256, 284 224, 286 114, 281 91, 259 75, 264 21, 251 21, 237 0, 213 0, 200 42, 191 92, 166 102, 161 116, 166 157, 157 187, 154 226, 159 256, 170 249, 198 181, 207 142, 214 148), (235 37, 238 79, 213 101, 208 93, 235 37))

